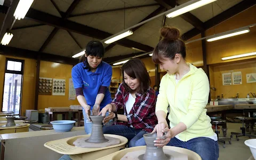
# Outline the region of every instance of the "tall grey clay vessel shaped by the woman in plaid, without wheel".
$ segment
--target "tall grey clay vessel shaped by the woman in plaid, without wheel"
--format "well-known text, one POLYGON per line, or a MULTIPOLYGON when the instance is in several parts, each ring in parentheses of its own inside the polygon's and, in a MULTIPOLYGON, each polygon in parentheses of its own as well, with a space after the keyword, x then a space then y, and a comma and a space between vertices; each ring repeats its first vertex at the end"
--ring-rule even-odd
POLYGON ((108 139, 105 139, 102 131, 102 121, 104 116, 90 116, 92 121, 92 133, 91 136, 86 142, 90 143, 104 143, 108 139))

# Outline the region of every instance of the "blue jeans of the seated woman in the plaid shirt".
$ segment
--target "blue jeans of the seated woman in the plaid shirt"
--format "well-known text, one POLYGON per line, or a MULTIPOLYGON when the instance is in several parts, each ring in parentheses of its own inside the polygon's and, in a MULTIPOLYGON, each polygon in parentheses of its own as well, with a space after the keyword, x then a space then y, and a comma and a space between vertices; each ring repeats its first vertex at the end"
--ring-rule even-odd
POLYGON ((143 131, 141 129, 136 130, 132 127, 127 127, 125 125, 111 125, 111 126, 104 126, 103 133, 121 135, 123 137, 126 137, 129 143, 128 147, 146 145, 146 142, 143 139, 143 134, 146 134, 146 131, 143 131))

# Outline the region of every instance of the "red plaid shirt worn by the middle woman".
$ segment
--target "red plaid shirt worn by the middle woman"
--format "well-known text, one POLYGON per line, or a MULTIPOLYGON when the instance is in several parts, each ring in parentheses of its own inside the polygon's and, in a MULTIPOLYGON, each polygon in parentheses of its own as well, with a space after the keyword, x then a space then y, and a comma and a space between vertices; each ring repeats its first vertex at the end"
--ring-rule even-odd
POLYGON ((117 123, 121 125, 130 126, 134 129, 142 129, 146 132, 152 132, 157 124, 155 115, 156 109, 156 94, 155 91, 148 87, 147 92, 140 94, 136 93, 134 105, 130 113, 126 113, 125 103, 129 98, 129 92, 125 91, 124 84, 122 83, 116 92, 115 99, 112 101, 117 109, 124 109, 128 122, 117 123))

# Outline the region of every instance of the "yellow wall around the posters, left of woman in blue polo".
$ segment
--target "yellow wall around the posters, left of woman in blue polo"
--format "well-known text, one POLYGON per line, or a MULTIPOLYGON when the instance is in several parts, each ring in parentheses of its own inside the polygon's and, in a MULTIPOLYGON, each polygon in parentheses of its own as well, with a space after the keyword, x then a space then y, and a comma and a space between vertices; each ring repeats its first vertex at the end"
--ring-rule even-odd
POLYGON ((68 100, 69 78, 73 66, 41 61, 39 77, 66 79, 66 94, 63 95, 38 95, 38 109, 48 107, 69 107, 79 105, 77 100, 68 100))

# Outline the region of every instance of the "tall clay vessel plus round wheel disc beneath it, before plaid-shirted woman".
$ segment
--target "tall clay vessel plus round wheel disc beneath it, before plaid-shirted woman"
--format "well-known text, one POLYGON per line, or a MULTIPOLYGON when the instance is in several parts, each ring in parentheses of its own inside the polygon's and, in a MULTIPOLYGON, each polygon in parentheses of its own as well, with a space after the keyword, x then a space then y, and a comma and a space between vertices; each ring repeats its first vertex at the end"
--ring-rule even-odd
POLYGON ((79 138, 73 142, 77 147, 101 148, 120 144, 120 139, 104 137, 102 131, 102 120, 104 116, 90 116, 92 121, 92 133, 90 138, 79 138))

